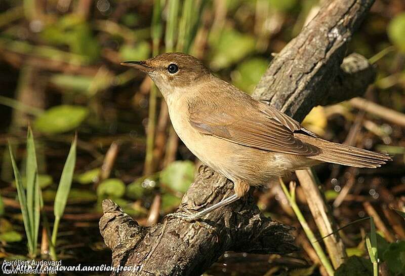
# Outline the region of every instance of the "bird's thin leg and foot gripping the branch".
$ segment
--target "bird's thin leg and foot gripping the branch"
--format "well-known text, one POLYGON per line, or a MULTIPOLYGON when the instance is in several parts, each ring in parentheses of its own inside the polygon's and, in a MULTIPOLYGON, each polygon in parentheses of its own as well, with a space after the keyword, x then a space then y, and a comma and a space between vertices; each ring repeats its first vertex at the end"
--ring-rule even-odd
POLYGON ((196 213, 191 213, 191 211, 187 210, 188 214, 180 214, 180 213, 173 213, 173 214, 168 214, 168 218, 181 218, 186 221, 196 221, 207 215, 208 213, 211 213, 214 210, 217 210, 218 208, 221 208, 223 206, 226 206, 232 202, 237 201, 240 199, 242 196, 244 196, 248 191, 249 191, 249 183, 245 181, 236 181, 234 183, 234 190, 235 193, 228 198, 214 204, 213 206, 210 206, 204 210, 198 211, 196 213))

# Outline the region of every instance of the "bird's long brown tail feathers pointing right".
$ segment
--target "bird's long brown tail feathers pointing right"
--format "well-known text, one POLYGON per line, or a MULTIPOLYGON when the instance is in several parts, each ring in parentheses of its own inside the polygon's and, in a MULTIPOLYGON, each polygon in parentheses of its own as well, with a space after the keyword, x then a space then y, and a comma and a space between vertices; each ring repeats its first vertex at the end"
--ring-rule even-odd
POLYGON ((387 161, 392 160, 388 154, 342 145, 305 134, 296 134, 296 137, 301 141, 321 148, 321 153, 314 156, 307 156, 310 159, 321 162, 357 168, 377 168, 381 167, 381 165, 385 164, 387 161))

